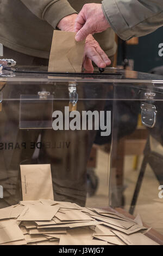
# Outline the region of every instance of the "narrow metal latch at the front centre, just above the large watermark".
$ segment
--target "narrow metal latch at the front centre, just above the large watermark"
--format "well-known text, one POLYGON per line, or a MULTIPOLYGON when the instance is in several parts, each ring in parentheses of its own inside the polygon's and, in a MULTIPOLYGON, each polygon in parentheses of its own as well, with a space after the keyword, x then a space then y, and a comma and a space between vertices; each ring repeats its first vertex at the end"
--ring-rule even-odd
POLYGON ((78 103, 77 84, 75 82, 70 82, 70 84, 68 85, 68 91, 70 96, 69 109, 71 112, 71 111, 77 110, 77 103, 78 103))

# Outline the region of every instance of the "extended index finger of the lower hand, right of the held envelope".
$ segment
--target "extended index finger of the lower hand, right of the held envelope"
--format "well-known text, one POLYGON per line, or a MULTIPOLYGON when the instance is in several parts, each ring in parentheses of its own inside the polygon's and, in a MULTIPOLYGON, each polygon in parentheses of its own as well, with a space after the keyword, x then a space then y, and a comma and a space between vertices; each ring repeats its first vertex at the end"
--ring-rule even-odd
POLYGON ((95 47, 87 49, 86 56, 89 57, 99 68, 105 68, 106 63, 103 61, 102 57, 96 51, 95 47))

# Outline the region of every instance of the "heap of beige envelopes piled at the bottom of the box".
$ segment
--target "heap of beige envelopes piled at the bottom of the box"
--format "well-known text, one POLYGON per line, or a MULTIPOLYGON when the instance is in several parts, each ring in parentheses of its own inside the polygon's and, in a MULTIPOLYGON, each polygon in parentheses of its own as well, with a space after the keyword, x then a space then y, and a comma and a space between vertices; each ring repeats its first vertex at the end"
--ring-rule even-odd
POLYGON ((139 216, 40 199, 0 209, 0 245, 157 245, 139 216))

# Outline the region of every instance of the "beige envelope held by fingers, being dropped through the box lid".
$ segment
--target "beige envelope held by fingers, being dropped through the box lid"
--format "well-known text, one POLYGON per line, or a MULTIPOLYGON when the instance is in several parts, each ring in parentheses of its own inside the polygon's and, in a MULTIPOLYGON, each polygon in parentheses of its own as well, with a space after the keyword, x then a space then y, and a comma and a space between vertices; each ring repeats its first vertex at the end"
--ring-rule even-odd
POLYGON ((81 72, 85 41, 77 42, 76 33, 54 30, 48 72, 81 72))

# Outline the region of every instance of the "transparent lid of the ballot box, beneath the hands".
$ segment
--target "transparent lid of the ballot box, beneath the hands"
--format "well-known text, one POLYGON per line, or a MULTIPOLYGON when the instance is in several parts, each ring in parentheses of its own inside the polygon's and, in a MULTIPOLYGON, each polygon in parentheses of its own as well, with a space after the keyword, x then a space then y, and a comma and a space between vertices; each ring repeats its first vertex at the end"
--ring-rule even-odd
POLYGON ((47 67, 18 66, 2 70, 0 82, 3 100, 19 100, 21 94, 37 94, 40 90, 55 94, 55 99, 69 99, 68 87, 73 85, 78 100, 146 100, 151 92, 155 100, 161 100, 163 92, 162 76, 117 68, 106 68, 104 72, 95 69, 93 73, 48 73, 47 67))

